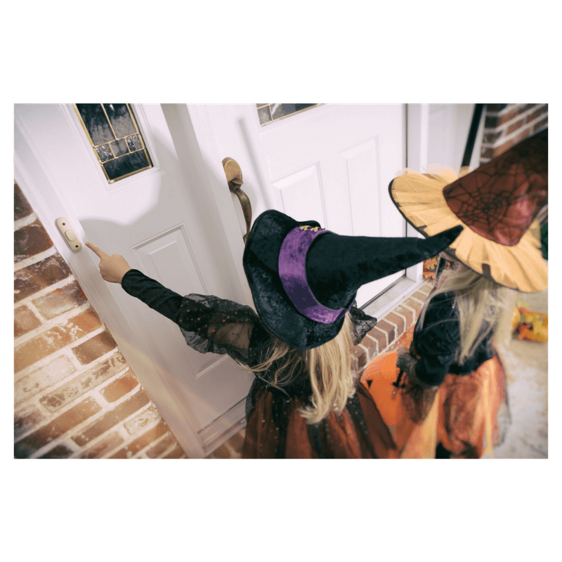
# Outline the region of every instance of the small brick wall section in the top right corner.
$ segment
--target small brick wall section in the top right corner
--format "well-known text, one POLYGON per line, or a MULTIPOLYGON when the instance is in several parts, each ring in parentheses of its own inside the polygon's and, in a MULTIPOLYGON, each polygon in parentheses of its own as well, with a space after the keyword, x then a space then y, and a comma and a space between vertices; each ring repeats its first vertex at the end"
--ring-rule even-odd
POLYGON ((549 125, 548 103, 488 103, 481 164, 549 125))

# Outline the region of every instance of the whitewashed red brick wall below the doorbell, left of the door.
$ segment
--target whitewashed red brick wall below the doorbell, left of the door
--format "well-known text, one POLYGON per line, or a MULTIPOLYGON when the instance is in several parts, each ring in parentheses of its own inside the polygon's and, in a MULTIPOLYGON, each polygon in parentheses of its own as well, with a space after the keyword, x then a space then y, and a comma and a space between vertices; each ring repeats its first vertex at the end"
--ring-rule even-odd
POLYGON ((186 458, 18 185, 13 457, 186 458))

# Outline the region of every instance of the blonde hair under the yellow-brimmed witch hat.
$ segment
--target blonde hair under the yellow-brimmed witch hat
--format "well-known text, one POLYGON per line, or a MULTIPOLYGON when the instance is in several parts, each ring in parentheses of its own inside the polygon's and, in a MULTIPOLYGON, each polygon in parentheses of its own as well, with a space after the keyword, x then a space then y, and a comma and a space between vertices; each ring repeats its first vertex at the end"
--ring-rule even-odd
MULTIPOLYGON (((517 296, 514 290, 498 285, 462 263, 456 263, 452 268, 443 270, 430 299, 445 292, 455 294, 461 337, 461 345, 455 355, 458 365, 462 365, 476 351, 490 332, 495 344, 506 345, 509 342, 511 316, 517 296)), ((430 299, 426 301, 426 306, 430 299)), ((419 318, 421 325, 426 306, 419 318)))

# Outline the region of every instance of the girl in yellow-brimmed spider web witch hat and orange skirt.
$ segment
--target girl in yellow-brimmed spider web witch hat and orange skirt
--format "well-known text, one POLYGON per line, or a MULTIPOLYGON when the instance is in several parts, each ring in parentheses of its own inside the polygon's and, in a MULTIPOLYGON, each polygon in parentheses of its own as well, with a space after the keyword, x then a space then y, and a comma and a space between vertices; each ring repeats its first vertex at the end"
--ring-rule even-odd
POLYGON ((547 287, 535 217, 547 203, 548 130, 459 178, 407 170, 393 202, 426 236, 464 226, 442 259, 410 348, 375 358, 362 375, 405 459, 492 456, 508 419, 494 342, 511 334, 516 289, 547 287))

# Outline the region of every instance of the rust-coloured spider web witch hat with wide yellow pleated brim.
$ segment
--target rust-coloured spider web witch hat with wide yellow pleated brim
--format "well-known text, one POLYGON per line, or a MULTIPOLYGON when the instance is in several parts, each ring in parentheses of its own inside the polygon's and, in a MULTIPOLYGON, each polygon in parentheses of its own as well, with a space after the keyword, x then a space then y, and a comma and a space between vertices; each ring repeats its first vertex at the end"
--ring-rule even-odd
POLYGON ((549 130, 457 178, 452 169, 406 169, 388 187, 404 218, 424 236, 462 225, 450 254, 492 281, 521 292, 548 285, 535 218, 548 202, 549 130))

